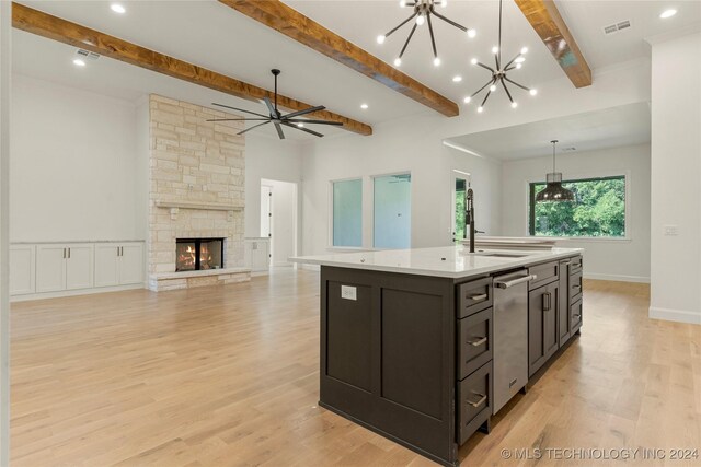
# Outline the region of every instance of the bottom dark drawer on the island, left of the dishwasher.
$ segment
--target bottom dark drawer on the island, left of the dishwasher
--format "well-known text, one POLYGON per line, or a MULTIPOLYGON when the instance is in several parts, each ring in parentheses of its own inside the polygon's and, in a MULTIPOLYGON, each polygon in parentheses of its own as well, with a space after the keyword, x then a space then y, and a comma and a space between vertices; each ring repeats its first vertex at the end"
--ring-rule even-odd
POLYGON ((458 383, 458 440, 467 441, 492 415, 492 362, 458 383))

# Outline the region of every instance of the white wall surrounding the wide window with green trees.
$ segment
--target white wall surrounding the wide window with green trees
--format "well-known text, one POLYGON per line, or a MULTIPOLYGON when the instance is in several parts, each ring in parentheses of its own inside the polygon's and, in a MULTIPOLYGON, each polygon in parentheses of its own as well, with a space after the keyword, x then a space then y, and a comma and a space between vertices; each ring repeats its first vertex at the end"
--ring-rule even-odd
MULTIPOLYGON (((585 248, 584 273, 591 279, 650 281, 650 145, 558 154, 565 179, 627 176, 625 240, 563 240, 558 246, 585 248)), ((552 172, 552 156, 505 162, 502 185, 502 232, 528 235, 528 184, 552 172)))

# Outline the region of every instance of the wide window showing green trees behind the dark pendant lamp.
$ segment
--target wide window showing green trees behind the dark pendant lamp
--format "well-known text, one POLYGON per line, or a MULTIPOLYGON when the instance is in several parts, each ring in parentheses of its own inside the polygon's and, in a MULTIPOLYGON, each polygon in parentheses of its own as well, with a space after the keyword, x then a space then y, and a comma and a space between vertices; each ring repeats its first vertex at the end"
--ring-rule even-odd
POLYGON ((562 185, 574 192, 574 202, 536 202, 536 194, 545 184, 530 184, 531 235, 625 236, 624 176, 568 180, 562 185))

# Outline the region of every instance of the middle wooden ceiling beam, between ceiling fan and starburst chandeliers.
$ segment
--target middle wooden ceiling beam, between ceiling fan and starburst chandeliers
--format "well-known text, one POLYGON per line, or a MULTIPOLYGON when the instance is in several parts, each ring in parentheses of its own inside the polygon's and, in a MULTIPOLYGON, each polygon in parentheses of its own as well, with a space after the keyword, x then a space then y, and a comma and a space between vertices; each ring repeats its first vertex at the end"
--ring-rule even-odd
POLYGON ((219 1, 447 117, 455 117, 460 113, 458 104, 455 102, 402 73, 279 0, 219 1))

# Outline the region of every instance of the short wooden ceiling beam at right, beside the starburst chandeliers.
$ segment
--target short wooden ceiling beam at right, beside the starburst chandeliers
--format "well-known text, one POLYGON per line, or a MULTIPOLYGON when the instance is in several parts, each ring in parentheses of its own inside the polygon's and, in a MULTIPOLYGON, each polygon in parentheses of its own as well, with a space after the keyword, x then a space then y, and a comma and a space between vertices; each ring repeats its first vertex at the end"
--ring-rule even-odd
POLYGON ((515 0, 575 87, 591 85, 591 70, 553 0, 515 0))

